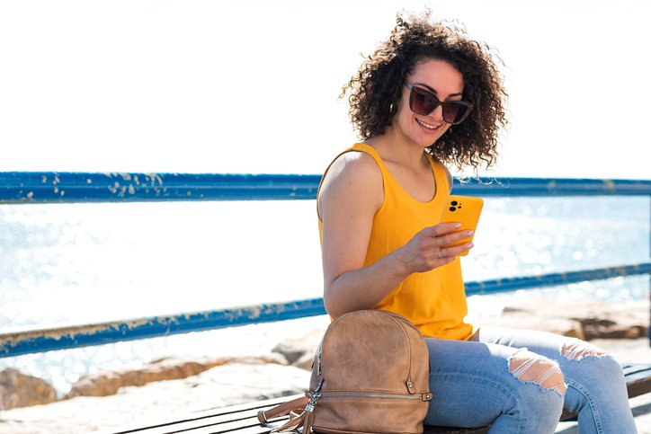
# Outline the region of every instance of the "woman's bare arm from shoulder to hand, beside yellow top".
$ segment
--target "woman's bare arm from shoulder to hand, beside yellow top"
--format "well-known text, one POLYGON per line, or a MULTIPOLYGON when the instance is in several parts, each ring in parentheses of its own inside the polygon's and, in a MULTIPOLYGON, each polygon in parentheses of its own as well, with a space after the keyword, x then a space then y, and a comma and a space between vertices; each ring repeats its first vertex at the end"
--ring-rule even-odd
POLYGON ((440 267, 468 244, 445 248, 441 245, 466 237, 452 232, 454 224, 425 227, 409 243, 364 266, 375 213, 382 206, 384 190, 379 167, 359 152, 343 154, 326 173, 318 198, 323 222, 322 252, 324 302, 333 317, 361 309, 372 309, 400 282, 414 272, 440 267))

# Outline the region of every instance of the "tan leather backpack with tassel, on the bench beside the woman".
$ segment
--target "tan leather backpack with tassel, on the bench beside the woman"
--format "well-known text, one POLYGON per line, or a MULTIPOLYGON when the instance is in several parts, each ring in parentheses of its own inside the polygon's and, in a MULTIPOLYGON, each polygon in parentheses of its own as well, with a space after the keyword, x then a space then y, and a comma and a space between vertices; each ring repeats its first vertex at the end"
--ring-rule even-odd
POLYGON ((290 414, 272 432, 422 433, 429 392, 423 335, 392 312, 362 310, 330 323, 315 354, 309 391, 258 419, 290 414), (304 408, 302 408, 304 407, 304 408))

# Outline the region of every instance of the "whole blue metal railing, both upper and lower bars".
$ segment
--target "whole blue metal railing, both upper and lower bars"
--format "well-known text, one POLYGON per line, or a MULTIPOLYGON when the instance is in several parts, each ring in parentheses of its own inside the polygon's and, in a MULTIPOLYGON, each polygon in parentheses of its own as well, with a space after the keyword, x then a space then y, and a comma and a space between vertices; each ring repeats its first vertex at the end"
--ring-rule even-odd
MULTIPOLYGON (((0 173, 0 204, 127 202, 161 200, 316 199, 318 175, 178 173, 0 173)), ((455 181, 455 193, 476 196, 651 196, 651 181, 497 179, 455 181)), ((651 273, 642 262, 597 270, 466 282, 468 295, 540 288, 584 280, 651 273)), ((62 350, 116 341, 268 323, 326 314, 322 298, 243 306, 107 323, 21 327, 0 333, 0 357, 62 350)), ((651 339, 651 331, 650 331, 651 339)))

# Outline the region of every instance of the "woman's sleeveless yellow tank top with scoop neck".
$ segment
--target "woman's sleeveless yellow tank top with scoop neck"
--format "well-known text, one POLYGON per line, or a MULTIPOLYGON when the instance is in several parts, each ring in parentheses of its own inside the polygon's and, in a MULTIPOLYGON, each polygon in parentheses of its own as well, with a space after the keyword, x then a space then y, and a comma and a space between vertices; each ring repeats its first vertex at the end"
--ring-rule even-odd
MULTIPOLYGON (((440 223, 443 206, 450 197, 450 187, 445 168, 428 155, 436 180, 436 194, 429 202, 421 202, 400 187, 371 146, 358 143, 342 154, 351 151, 360 151, 373 157, 382 173, 384 184, 384 202, 373 217, 369 248, 364 261, 364 266, 368 266, 405 245, 424 227, 440 223)), ((318 223, 319 234, 323 236, 323 222, 320 218, 318 223)), ((405 316, 425 337, 465 341, 476 331, 471 324, 463 321, 468 314, 468 305, 459 258, 434 270, 411 274, 375 309, 405 316)))

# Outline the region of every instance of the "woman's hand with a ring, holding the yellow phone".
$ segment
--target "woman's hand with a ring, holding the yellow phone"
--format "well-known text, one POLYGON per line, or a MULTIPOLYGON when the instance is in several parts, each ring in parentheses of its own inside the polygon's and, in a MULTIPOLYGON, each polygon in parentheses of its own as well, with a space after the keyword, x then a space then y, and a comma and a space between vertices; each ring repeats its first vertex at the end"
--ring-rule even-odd
POLYGON ((472 231, 459 231, 459 223, 440 223, 425 227, 397 249, 397 258, 402 261, 409 274, 433 270, 447 265, 474 244, 464 243, 446 247, 472 235, 472 231))

